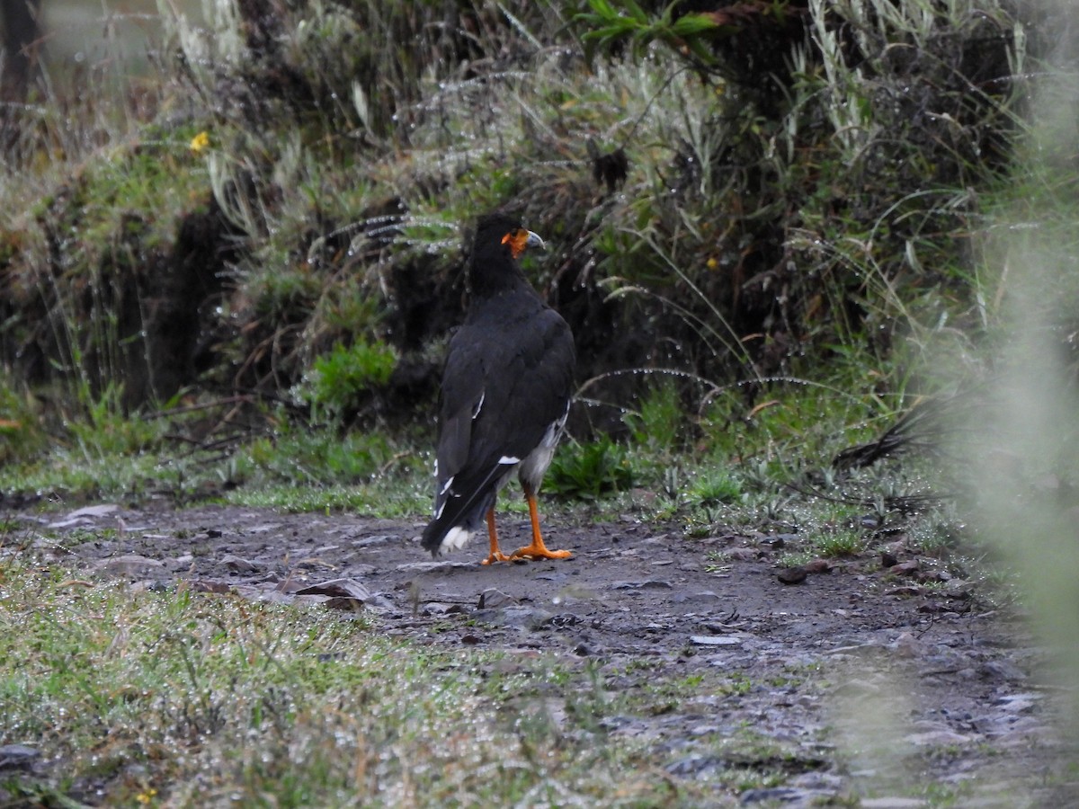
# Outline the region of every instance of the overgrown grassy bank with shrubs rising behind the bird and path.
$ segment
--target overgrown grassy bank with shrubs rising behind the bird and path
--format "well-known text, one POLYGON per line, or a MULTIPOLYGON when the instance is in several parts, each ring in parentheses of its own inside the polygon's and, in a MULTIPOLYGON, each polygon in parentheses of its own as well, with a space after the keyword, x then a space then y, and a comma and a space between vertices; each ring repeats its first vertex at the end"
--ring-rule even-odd
POLYGON ((5 52, 0 504, 424 513, 505 207, 581 356, 566 508, 997 537, 1068 637, 1065 0, 86 8, 5 52))

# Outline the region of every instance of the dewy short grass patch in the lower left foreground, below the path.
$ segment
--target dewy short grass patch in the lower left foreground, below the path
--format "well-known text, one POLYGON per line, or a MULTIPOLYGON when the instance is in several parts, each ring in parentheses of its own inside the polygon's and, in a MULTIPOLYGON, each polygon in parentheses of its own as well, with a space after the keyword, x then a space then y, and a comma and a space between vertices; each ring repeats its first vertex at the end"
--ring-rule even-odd
POLYGON ((599 733, 596 715, 574 726, 570 712, 561 731, 524 721, 516 700, 532 674, 501 674, 489 654, 11 556, 0 607, 0 742, 46 763, 44 776, 9 778, 11 794, 177 807, 695 803, 645 777, 637 748, 599 733))

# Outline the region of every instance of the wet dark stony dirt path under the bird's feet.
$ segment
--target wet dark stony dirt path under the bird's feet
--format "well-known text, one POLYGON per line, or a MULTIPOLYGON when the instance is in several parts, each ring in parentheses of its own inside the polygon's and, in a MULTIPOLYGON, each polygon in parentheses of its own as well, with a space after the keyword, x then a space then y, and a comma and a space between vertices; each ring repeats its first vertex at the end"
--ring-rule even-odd
MULTIPOLYGON (((347 515, 101 505, 23 519, 42 523, 40 550, 87 575, 358 607, 418 644, 598 667, 612 693, 704 683, 605 726, 682 779, 730 765, 716 733, 751 730, 783 751, 788 777, 745 805, 1079 806, 1044 653, 968 582, 919 582, 901 549, 894 570, 832 561, 787 585, 777 559, 796 537, 688 539, 629 518, 556 520, 548 545, 571 560, 490 567, 482 539, 433 561, 422 523, 347 515), (709 694, 715 675, 739 687, 709 694)), ((522 516, 500 524, 504 548, 524 544, 522 516)))

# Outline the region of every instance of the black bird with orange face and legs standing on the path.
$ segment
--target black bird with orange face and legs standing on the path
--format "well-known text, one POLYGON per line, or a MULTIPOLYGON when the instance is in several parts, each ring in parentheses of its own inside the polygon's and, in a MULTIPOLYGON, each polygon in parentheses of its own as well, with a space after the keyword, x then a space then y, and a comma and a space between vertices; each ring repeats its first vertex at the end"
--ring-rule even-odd
POLYGON ((484 521, 490 553, 483 564, 572 556, 544 544, 536 496, 570 412, 576 351, 570 326, 518 264, 530 247, 545 244, 514 217, 496 211, 477 219, 468 306, 442 369, 434 518, 421 538, 436 559, 463 547, 484 521), (532 543, 507 556, 494 505, 515 474, 532 543))

